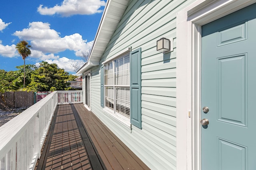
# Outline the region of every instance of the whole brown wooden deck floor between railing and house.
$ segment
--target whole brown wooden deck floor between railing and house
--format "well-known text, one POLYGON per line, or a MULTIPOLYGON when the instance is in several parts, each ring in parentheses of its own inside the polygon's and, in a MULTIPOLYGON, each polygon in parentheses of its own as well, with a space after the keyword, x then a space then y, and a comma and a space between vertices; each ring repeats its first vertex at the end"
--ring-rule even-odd
POLYGON ((149 169, 83 104, 59 105, 36 169, 149 169))

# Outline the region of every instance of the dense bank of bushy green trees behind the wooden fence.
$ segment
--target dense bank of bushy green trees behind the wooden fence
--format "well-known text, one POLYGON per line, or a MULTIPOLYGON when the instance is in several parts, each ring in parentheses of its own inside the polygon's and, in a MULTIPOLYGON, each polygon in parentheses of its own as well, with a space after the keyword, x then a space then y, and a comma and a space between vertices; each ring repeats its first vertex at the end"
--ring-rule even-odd
POLYGON ((40 63, 39 68, 35 65, 27 64, 26 82, 24 80, 24 67, 16 66, 18 70, 5 71, 0 69, 0 89, 5 91, 33 90, 37 91, 54 91, 54 90, 76 90, 68 87, 68 81, 74 81, 77 76, 65 72, 57 64, 47 62, 40 63))

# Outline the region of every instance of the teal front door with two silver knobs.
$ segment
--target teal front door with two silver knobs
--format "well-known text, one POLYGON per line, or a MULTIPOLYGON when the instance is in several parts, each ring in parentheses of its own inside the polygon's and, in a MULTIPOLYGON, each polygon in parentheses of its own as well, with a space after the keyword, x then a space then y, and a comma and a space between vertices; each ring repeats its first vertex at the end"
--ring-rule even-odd
POLYGON ((255 18, 252 4, 202 26, 202 170, 256 170, 255 18))

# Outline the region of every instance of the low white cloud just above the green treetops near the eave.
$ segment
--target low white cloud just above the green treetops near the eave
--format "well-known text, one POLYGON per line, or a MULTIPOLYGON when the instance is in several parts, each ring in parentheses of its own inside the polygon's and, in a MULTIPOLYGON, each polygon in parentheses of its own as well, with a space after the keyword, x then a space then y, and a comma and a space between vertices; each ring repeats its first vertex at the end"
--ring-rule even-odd
MULTIPOLYGON (((72 64, 83 62, 82 60, 73 60, 73 59, 68 59, 66 57, 62 57, 55 60, 47 59, 45 61, 49 64, 55 63, 58 65, 58 67, 64 69, 67 72, 74 72, 74 67, 72 66, 72 64)), ((39 65, 40 63, 36 63, 37 67, 39 67, 39 65)))

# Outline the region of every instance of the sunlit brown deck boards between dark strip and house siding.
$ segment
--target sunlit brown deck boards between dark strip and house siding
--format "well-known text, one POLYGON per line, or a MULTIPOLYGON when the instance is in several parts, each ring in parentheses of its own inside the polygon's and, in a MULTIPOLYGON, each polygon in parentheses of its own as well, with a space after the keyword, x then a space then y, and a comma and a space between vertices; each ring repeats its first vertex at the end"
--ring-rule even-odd
POLYGON ((110 164, 113 169, 149 169, 96 115, 82 104, 74 106, 105 166, 110 164))

